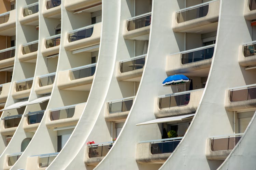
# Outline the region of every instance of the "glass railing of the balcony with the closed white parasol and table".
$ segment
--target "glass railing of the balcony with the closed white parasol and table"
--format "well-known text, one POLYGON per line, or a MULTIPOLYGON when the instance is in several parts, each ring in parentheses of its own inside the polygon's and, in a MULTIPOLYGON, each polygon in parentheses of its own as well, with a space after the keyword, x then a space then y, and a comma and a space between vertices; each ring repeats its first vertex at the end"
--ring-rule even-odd
POLYGON ((145 57, 147 54, 132 57, 126 60, 120 61, 120 71, 121 73, 141 69, 145 64, 145 57))

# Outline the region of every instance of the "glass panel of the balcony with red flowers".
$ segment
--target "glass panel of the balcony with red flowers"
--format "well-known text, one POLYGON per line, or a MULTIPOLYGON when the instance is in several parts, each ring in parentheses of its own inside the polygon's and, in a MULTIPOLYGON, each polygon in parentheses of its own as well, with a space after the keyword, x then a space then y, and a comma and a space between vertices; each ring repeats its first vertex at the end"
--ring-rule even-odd
POLYGON ((89 158, 106 156, 113 144, 104 146, 89 147, 89 158))

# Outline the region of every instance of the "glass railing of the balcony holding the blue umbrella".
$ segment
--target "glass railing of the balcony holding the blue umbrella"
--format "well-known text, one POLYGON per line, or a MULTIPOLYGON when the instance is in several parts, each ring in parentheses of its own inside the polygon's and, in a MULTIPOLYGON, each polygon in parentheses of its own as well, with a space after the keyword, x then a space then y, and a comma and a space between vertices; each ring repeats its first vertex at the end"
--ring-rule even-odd
POLYGON ((163 97, 159 97, 159 108, 170 108, 176 106, 185 106, 189 103, 190 91, 178 92, 163 97))

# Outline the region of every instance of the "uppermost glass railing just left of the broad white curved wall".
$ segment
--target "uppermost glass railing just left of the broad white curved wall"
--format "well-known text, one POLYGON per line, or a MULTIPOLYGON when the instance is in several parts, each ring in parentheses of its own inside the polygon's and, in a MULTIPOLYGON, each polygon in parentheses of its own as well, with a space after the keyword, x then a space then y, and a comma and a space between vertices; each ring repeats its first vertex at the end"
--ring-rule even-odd
POLYGON ((93 34, 94 25, 73 30, 69 33, 69 42, 88 38, 93 34))

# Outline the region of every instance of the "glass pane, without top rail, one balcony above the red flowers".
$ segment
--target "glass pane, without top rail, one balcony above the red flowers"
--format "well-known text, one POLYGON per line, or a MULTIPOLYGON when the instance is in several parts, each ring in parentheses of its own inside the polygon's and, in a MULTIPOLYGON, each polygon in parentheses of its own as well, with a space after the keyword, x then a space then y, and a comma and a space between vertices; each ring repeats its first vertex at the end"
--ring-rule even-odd
POLYGON ((133 99, 115 103, 109 103, 109 113, 130 111, 133 99))

